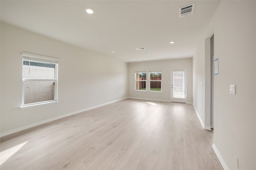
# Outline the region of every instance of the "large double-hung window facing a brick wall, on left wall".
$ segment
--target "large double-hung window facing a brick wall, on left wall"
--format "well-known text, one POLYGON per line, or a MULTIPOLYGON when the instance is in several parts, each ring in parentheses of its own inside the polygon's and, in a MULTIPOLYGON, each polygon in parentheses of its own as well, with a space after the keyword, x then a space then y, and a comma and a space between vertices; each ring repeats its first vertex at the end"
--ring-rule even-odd
POLYGON ((22 107, 57 101, 58 59, 22 53, 22 107))

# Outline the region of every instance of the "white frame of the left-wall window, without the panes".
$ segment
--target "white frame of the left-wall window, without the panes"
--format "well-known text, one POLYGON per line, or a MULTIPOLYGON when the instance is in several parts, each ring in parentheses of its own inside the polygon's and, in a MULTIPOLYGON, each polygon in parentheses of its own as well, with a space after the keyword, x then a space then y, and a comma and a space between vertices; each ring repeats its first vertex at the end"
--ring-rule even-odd
POLYGON ((58 63, 59 59, 54 58, 54 57, 47 57, 43 55, 36 55, 36 54, 31 54, 31 53, 24 53, 22 52, 22 106, 20 107, 21 109, 23 108, 30 108, 30 107, 36 107, 36 106, 43 106, 47 104, 54 104, 58 102, 58 63), (25 59, 24 59, 25 58, 25 59), (55 78, 54 79, 42 79, 42 78, 23 78, 23 61, 27 61, 28 58, 31 61, 36 61, 39 63, 52 63, 55 64, 55 78), (47 101, 42 101, 42 102, 34 102, 34 103, 29 103, 29 104, 24 104, 24 96, 25 96, 25 82, 26 81, 54 81, 54 100, 47 100, 47 101))

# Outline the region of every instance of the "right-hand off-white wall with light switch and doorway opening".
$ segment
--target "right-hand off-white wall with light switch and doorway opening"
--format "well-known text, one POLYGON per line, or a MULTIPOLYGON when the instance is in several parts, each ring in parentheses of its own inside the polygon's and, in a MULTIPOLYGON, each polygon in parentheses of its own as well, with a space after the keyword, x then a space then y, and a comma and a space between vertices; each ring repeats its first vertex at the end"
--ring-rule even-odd
MULTIPOLYGON (((256 1, 221 1, 193 57, 194 104, 204 107, 205 40, 214 33, 214 145, 230 170, 256 169, 256 1), (229 92, 236 84, 236 95, 229 92)), ((201 109, 202 110, 202 109, 201 109)), ((205 118, 201 111, 200 116, 205 118)), ((208 116, 208 115, 206 115, 208 116)))

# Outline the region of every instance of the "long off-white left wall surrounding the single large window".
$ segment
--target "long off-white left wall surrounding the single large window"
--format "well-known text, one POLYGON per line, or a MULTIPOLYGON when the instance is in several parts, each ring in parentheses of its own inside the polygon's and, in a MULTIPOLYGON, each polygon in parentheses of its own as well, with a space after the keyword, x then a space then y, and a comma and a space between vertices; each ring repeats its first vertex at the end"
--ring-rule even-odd
POLYGON ((2 22, 0 63, 1 135, 127 97, 127 63, 2 22), (22 52, 60 59, 57 104, 20 109, 22 52))

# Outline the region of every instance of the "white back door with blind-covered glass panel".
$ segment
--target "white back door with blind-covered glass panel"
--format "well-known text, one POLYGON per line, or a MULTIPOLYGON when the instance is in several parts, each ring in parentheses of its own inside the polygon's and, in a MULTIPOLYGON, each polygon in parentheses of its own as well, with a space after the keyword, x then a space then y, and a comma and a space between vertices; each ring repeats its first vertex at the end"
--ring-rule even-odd
POLYGON ((172 102, 186 103, 186 70, 172 70, 172 102))

